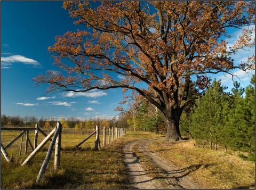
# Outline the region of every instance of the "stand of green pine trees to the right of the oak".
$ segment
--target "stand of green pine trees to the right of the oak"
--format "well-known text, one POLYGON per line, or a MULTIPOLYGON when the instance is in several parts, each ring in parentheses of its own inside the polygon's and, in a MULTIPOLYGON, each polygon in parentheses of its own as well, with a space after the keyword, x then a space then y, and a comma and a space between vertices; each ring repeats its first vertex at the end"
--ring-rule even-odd
POLYGON ((224 90, 214 80, 190 113, 182 114, 181 132, 202 147, 217 150, 221 145, 226 151, 246 151, 255 158, 255 75, 245 89, 236 81, 232 93, 224 90))

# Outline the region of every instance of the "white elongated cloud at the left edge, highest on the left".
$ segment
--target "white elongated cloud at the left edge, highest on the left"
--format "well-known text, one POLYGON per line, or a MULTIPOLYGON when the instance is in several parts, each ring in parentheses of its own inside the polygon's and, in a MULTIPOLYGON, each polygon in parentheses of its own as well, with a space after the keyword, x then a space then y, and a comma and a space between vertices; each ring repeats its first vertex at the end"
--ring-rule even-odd
POLYGON ((33 67, 41 67, 41 64, 33 59, 29 59, 23 55, 11 55, 8 57, 1 56, 1 68, 6 69, 6 66, 12 65, 12 63, 22 63, 27 65, 33 65, 33 67), (3 67, 2 67, 3 66, 3 67))

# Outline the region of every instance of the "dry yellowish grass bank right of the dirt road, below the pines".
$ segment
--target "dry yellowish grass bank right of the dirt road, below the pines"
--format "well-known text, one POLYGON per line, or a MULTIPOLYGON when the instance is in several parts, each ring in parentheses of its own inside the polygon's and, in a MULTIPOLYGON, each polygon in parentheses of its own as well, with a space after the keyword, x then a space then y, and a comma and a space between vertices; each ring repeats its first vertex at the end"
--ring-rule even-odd
POLYGON ((183 169, 202 188, 255 189, 255 162, 239 158, 237 152, 225 153, 194 146, 193 140, 151 144, 151 150, 183 169))

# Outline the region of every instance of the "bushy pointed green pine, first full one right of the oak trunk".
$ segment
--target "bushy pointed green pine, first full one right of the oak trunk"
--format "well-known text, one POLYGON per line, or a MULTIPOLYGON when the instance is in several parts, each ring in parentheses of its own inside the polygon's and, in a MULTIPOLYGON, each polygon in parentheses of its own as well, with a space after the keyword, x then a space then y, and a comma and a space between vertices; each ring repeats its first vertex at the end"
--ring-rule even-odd
POLYGON ((191 115, 191 135, 194 138, 202 139, 203 145, 205 142, 209 142, 212 148, 212 145, 215 144, 215 150, 220 133, 221 104, 225 101, 223 89, 225 87, 221 86, 221 82, 214 79, 205 95, 197 101, 197 106, 193 108, 194 113, 191 115))

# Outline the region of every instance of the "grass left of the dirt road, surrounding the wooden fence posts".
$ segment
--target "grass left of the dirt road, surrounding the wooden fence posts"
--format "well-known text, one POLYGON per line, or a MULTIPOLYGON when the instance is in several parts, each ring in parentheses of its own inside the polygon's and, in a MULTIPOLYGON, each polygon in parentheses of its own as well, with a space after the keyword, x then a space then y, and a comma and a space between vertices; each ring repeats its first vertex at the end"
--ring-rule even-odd
MULTIPOLYGON (((17 132, 1 131, 1 141, 8 144, 17 132), (9 138, 9 139, 8 139, 9 138)), ((33 136, 33 135, 31 135, 33 136)), ((71 150, 87 135, 62 135, 61 170, 54 171, 54 158, 49 161, 39 185, 35 184, 36 177, 42 166, 47 152, 47 147, 39 152, 26 166, 20 166, 28 154, 19 156, 20 140, 14 143, 7 152, 12 157, 12 163, 7 163, 2 156, 1 160, 1 188, 2 189, 131 189, 131 180, 122 159, 122 147, 138 139, 154 138, 150 133, 133 132, 116 139, 100 151, 93 151, 95 136, 87 140, 78 150, 71 150)), ((41 140, 43 137, 40 137, 41 140)), ((101 146, 102 146, 102 136, 101 146)), ((32 140, 32 139, 30 139, 32 140)), ((40 141, 38 141, 39 144, 40 141)), ((23 145, 24 147, 24 145, 23 145)))

